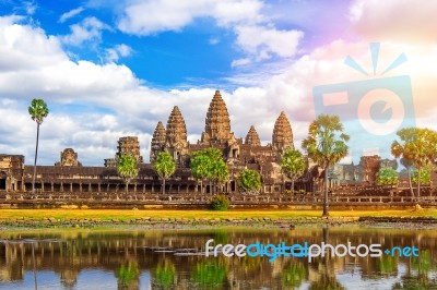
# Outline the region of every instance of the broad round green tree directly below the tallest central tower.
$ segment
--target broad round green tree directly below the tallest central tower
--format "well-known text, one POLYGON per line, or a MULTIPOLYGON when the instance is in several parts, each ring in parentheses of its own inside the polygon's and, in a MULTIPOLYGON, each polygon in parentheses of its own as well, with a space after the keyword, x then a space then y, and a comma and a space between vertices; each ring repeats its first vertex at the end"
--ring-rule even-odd
POLYGON ((203 179, 209 179, 216 186, 223 184, 229 176, 227 166, 223 161, 222 152, 217 148, 206 148, 193 153, 190 167, 193 177, 201 181, 201 190, 203 190, 203 179))

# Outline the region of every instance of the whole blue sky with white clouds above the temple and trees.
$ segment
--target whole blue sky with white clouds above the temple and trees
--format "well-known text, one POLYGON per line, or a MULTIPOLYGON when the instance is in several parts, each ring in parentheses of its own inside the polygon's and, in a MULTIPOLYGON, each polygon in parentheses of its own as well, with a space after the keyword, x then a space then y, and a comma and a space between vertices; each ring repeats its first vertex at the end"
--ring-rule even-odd
POLYGON ((42 98, 50 112, 39 165, 71 147, 102 166, 129 135, 147 161, 157 122, 178 106, 196 143, 220 89, 237 137, 255 125, 270 143, 284 111, 299 148, 316 116, 338 113, 353 148, 344 162, 390 157, 400 128, 437 130, 436 10, 410 0, 0 0, 0 154, 33 162, 27 107, 42 98))

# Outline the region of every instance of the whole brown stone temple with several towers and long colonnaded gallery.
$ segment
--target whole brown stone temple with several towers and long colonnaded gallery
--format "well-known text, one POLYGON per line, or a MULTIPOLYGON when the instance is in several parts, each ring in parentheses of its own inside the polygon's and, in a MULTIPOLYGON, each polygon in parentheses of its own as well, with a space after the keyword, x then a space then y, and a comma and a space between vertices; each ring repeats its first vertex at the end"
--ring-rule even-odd
MULTIPOLYGON (((184 114, 175 106, 166 125, 160 121, 153 132, 150 162, 145 164, 140 154, 140 141, 137 136, 123 136, 118 141, 114 158, 104 160, 102 167, 87 167, 79 161, 78 153, 66 148, 55 166, 37 166, 36 189, 40 192, 123 192, 125 183, 118 177, 116 160, 123 154, 131 154, 138 162, 139 176, 129 184, 131 193, 158 193, 161 181, 153 169, 153 161, 160 152, 168 152, 177 170, 166 182, 167 193, 199 192, 199 184, 191 176, 189 160, 192 153, 214 147, 222 152, 229 168, 229 179, 224 184, 226 193, 239 192, 237 178, 243 169, 253 169, 261 173, 261 193, 277 193, 290 189, 287 178, 279 165, 285 148, 294 148, 293 130, 284 111, 280 112, 273 128, 271 143, 261 144, 260 136, 252 124, 248 133, 236 137, 232 132, 231 118, 225 101, 218 90, 215 92, 204 119, 204 131, 196 144, 187 140, 187 126, 184 114)), ((310 160, 308 170, 295 183, 295 190, 314 192, 320 186, 320 170, 310 160)), ((374 182, 379 169, 379 157, 363 157, 359 167, 335 166, 330 176, 333 183, 374 182), (376 158, 376 159, 375 159, 376 158)), ((0 191, 26 192, 32 189, 33 166, 24 165, 24 156, 0 155, 0 191)), ((209 185, 205 192, 212 192, 209 185)))

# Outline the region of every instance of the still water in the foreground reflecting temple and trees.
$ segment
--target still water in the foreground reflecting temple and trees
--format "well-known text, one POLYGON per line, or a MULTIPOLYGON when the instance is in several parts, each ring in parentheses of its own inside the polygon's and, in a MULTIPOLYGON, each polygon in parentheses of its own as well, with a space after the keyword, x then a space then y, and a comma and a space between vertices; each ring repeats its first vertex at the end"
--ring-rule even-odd
POLYGON ((2 231, 0 289, 437 289, 437 230, 2 231), (418 257, 204 256, 205 242, 416 246, 418 257))

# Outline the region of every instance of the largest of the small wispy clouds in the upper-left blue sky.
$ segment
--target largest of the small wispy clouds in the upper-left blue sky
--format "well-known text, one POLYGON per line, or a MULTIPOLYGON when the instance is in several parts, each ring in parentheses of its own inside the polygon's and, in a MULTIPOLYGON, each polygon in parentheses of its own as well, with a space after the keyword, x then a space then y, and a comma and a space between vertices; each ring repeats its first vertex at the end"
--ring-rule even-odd
POLYGON ((99 43, 102 31, 110 29, 108 25, 96 17, 86 17, 79 24, 70 26, 71 34, 62 36, 62 43, 73 46, 80 46, 85 41, 99 43))

